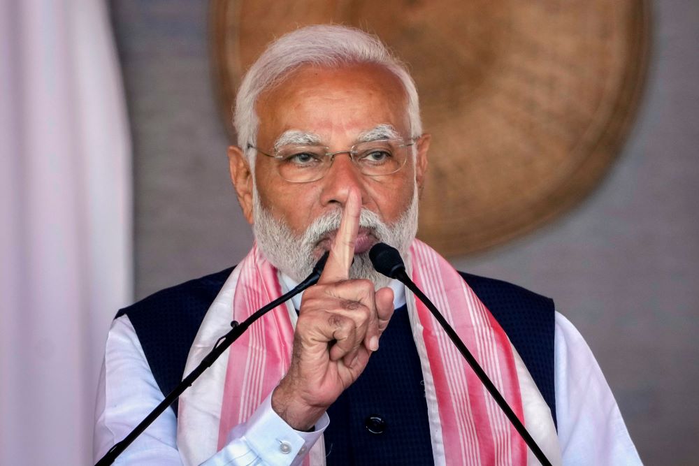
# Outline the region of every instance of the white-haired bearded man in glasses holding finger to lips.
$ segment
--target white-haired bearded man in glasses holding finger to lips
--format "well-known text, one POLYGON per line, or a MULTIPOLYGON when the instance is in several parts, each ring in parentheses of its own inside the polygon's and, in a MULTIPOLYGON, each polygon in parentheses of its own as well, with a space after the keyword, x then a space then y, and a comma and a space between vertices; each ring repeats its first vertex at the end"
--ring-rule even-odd
POLYGON ((428 313, 373 270, 396 247, 553 464, 640 463, 600 369, 552 302, 456 272, 415 240, 430 136, 415 85, 372 36, 298 29, 250 68, 231 179, 255 236, 224 272, 117 314, 96 412, 101 456, 230 328, 303 280, 124 452, 162 465, 535 464, 428 313))

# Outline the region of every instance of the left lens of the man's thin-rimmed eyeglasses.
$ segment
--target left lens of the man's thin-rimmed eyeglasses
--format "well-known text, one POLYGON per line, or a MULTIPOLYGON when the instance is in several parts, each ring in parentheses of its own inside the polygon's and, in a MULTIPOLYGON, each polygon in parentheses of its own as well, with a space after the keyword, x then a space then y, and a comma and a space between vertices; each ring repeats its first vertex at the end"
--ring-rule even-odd
POLYGON ((319 146, 282 146, 277 151, 279 174, 291 182, 319 180, 330 163, 326 152, 319 146))

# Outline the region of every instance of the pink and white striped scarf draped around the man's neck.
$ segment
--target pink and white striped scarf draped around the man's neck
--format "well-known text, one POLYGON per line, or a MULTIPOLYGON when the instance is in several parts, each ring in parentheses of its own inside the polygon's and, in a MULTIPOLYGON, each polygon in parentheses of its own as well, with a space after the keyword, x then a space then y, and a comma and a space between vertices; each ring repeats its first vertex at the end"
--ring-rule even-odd
MULTIPOLYGON (((549 460, 559 463, 549 409, 503 329, 433 249, 415 240, 406 259, 417 286, 442 311, 549 460)), ((429 310, 406 293, 435 464, 538 464, 429 310)), ((185 373, 226 333, 231 320, 245 320, 280 294, 276 270, 254 245, 208 310, 185 373)), ((254 323, 180 397, 178 447, 185 465, 199 465, 221 449, 230 430, 250 418, 287 372, 294 339, 290 312, 289 304, 282 305, 254 323)), ((304 463, 324 463, 323 451, 322 442, 317 442, 304 463)))

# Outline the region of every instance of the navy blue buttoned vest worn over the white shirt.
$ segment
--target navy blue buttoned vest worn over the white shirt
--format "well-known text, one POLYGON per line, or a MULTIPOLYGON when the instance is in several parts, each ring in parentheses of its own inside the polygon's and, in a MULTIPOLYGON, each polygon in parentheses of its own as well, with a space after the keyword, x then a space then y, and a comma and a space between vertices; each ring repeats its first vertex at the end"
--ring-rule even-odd
MULTIPOLYGON (((159 291, 117 314, 129 316, 163 393, 182 379, 189 347, 231 270, 159 291)), ((499 280, 461 276, 510 337, 555 423, 553 301, 499 280)), ((177 414, 176 403, 172 408, 177 414)), ((328 414, 329 465, 433 463, 420 361, 405 306, 394 313, 361 377, 328 414)))

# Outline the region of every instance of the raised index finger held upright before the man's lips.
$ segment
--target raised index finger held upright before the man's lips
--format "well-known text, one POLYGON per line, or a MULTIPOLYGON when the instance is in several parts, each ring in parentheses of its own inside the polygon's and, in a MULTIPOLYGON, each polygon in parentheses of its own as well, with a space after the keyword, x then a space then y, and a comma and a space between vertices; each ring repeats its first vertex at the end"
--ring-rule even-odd
POLYGON ((356 191, 349 191, 343 218, 340 220, 340 228, 330 247, 330 255, 318 283, 334 283, 349 278, 349 266, 354 259, 354 243, 359 231, 360 214, 361 195, 356 191))

